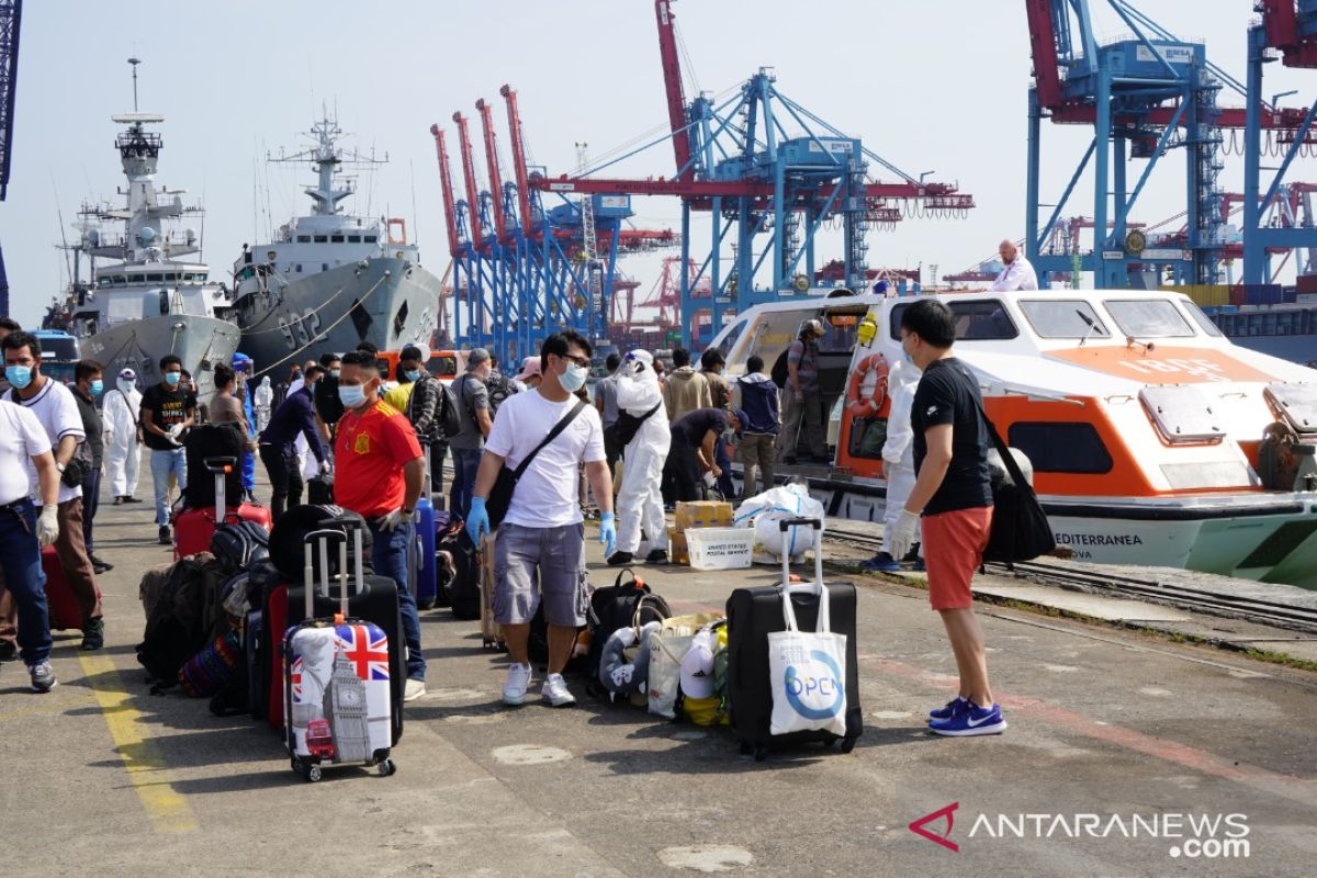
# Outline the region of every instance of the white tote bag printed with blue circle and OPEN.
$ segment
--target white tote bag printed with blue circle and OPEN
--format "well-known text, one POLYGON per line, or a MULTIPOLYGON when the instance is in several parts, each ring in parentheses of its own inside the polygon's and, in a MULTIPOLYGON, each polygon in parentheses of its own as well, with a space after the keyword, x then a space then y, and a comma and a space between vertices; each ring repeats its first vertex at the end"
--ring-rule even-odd
MULTIPOLYGON (((819 565, 822 567, 822 565, 819 565)), ((822 569, 819 570, 822 574, 822 569)), ((768 666, 773 687, 770 735, 823 731, 846 736, 846 634, 831 632, 828 591, 822 575, 806 586, 782 587, 786 631, 768 636, 768 666), (813 632, 799 631, 792 591, 819 596, 819 617, 813 632)))

